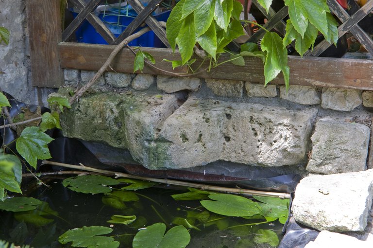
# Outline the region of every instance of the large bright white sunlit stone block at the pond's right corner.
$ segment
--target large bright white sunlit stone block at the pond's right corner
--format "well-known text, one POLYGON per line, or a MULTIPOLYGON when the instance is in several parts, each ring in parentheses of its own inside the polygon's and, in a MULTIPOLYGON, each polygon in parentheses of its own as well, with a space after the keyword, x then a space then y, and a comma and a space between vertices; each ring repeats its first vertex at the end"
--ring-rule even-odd
POLYGON ((373 170, 303 178, 295 190, 295 219, 317 230, 363 231, 372 205, 373 170))

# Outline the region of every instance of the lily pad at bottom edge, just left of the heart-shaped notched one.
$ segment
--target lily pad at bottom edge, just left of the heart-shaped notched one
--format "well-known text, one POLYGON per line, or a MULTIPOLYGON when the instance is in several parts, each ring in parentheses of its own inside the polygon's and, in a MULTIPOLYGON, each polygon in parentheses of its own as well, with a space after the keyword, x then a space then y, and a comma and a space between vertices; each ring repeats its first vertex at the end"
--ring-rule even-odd
POLYGON ((91 226, 68 230, 62 234, 58 241, 61 244, 72 242, 72 247, 89 248, 118 248, 119 242, 112 237, 98 236, 111 233, 113 229, 101 226, 91 226))

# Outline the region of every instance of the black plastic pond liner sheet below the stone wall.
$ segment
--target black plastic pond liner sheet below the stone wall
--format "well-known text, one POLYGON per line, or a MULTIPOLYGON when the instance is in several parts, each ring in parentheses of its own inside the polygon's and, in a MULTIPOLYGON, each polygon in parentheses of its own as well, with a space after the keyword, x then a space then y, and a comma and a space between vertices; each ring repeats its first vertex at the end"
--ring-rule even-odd
MULTIPOLYGON (((21 108, 28 108, 32 112, 37 108, 37 106, 25 105, 17 102, 9 94, 5 93, 5 95, 12 106, 9 111, 12 117, 21 113, 21 108)), ((42 113, 48 111, 50 111, 48 108, 41 108, 42 113)), ((7 120, 5 118, 0 118, 0 125, 3 124, 8 124, 7 120)), ((237 168, 231 169, 230 166, 228 166, 229 168, 225 168, 225 170, 216 163, 189 170, 148 170, 136 164, 128 150, 109 147, 96 142, 85 142, 63 137, 59 129, 48 130, 46 133, 54 139, 49 144, 52 156, 52 159, 50 159, 51 161, 75 165, 82 163, 89 167, 144 177, 169 178, 225 187, 241 187, 253 190, 289 193, 291 196, 290 207, 292 198, 294 197, 295 187, 301 179, 301 176, 297 174, 280 175, 271 167, 262 168, 250 166, 250 169, 248 169, 247 165, 237 164, 235 164, 237 168), (119 157, 124 157, 125 159, 120 159, 118 154, 120 154, 119 157), (124 156, 122 156, 123 154, 124 156), (119 159, 116 160, 116 158, 119 159)), ((0 135, 0 141, 5 144, 17 138, 16 132, 9 127, 0 129, 0 135)), ((10 145, 12 151, 16 150, 15 145, 15 142, 10 145)), ((37 171, 60 171, 67 169, 46 165, 40 167, 39 165, 40 161, 37 171)), ((284 225, 284 236, 279 244, 279 248, 303 248, 308 242, 315 240, 318 234, 319 232, 317 230, 309 229, 297 223, 289 210, 289 218, 284 225)))

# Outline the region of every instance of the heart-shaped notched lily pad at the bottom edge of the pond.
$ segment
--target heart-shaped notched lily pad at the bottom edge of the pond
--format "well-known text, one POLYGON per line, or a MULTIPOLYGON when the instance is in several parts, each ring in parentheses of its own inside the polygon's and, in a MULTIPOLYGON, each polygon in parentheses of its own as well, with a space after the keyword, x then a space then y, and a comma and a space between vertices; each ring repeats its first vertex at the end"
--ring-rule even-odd
POLYGON ((189 232, 183 226, 171 228, 166 234, 166 225, 155 223, 136 233, 133 248, 185 248, 190 242, 189 232))

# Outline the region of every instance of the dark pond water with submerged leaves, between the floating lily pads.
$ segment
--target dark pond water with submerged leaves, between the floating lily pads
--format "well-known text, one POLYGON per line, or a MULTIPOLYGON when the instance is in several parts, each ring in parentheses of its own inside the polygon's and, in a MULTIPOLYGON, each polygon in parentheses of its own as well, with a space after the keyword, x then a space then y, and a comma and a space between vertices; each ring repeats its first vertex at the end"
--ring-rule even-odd
POLYGON ((0 211, 0 240, 35 248, 70 247, 71 243, 58 242, 58 237, 67 230, 104 226, 113 229, 105 236, 114 237, 120 242, 119 247, 131 248, 140 228, 159 222, 165 223, 167 230, 177 225, 189 227, 191 240, 187 248, 276 247, 282 237, 283 224, 278 219, 263 223, 266 219, 228 217, 207 211, 200 200, 174 200, 171 195, 187 192, 183 188, 158 185, 136 191, 114 189, 122 199, 117 201, 113 195, 77 193, 65 188, 62 179, 45 179, 50 188, 35 184, 30 187, 29 183, 23 189, 24 196, 43 201, 42 207, 30 212, 0 211), (136 220, 128 225, 110 224, 107 221, 113 215, 135 215, 136 220), (277 244, 271 235, 262 238, 268 234, 263 230, 275 233, 277 244))

